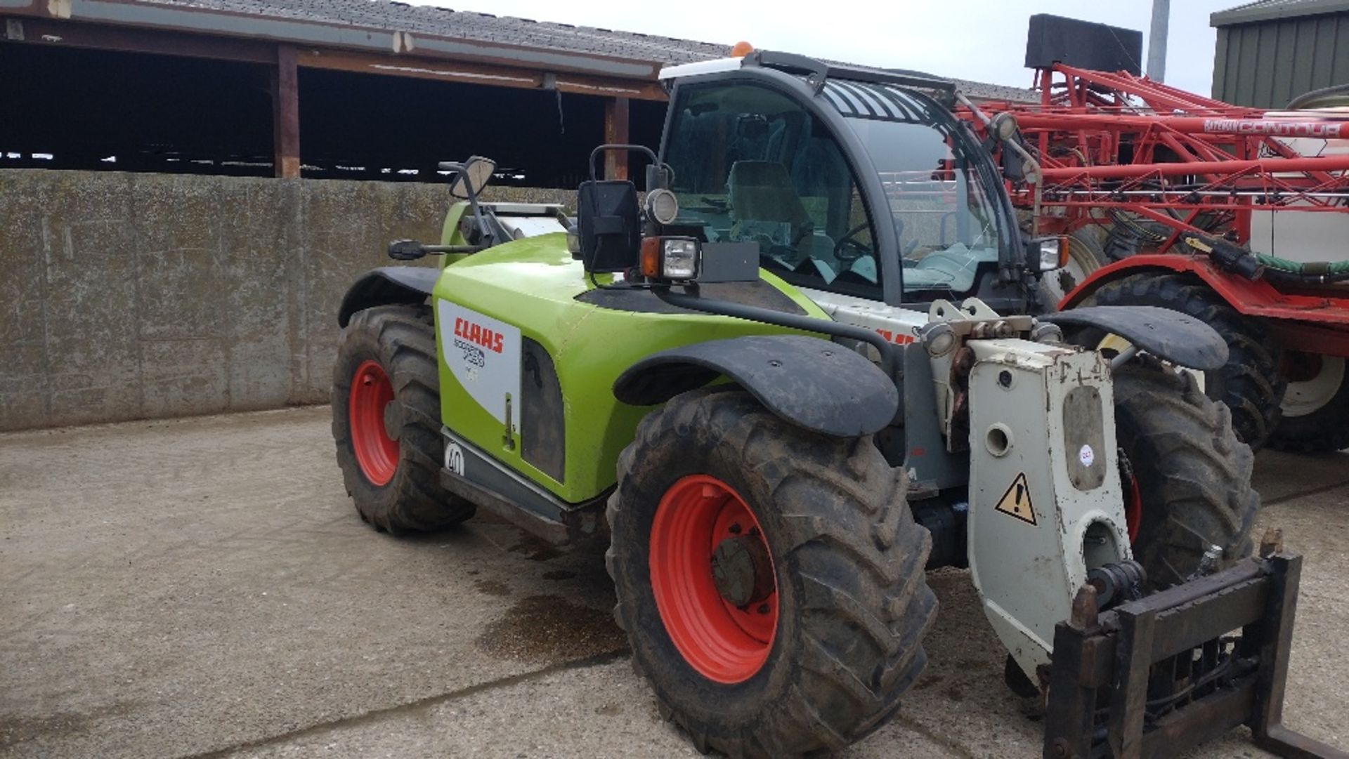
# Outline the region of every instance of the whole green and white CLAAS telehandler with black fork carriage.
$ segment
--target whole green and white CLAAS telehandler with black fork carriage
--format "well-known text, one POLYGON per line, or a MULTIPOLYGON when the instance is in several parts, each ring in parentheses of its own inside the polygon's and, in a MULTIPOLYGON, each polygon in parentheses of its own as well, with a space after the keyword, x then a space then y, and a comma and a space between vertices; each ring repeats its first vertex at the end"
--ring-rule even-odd
POLYGON ((596 148, 575 218, 448 164, 440 244, 390 251, 441 266, 351 289, 333 434, 362 518, 606 543, 634 665, 701 750, 876 729, 925 663, 924 570, 954 565, 1009 685, 1047 694, 1045 756, 1238 724, 1331 755, 1280 723, 1300 559, 1253 545, 1251 450, 1187 371, 1221 338, 1018 314, 1058 241, 1023 239, 950 82, 773 53, 662 78, 660 154, 596 148), (646 155, 645 198, 594 177, 614 150, 646 155))

